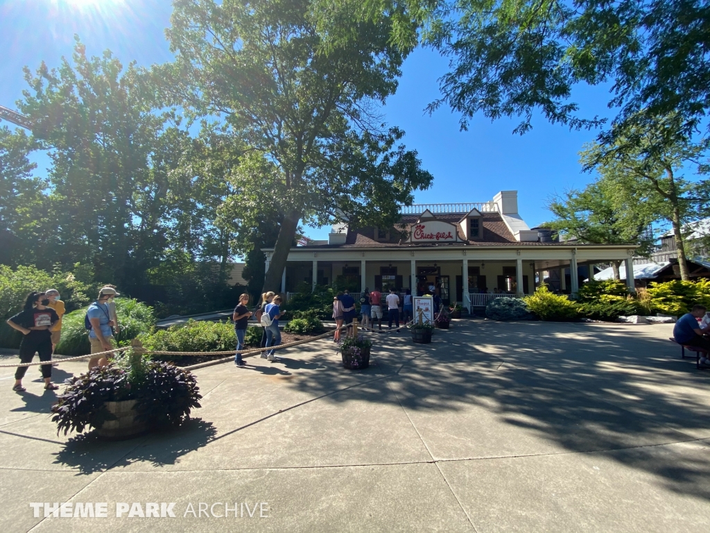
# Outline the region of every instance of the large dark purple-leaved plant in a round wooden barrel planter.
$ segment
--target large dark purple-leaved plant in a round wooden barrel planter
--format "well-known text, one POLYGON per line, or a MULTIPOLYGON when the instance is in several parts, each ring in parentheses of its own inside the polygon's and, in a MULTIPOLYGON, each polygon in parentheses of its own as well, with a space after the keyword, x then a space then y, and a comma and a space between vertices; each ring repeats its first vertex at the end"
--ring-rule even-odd
POLYGON ((121 440, 179 426, 202 398, 191 372, 147 355, 119 355, 105 367, 65 382, 52 407, 59 431, 95 428, 100 438, 121 440))

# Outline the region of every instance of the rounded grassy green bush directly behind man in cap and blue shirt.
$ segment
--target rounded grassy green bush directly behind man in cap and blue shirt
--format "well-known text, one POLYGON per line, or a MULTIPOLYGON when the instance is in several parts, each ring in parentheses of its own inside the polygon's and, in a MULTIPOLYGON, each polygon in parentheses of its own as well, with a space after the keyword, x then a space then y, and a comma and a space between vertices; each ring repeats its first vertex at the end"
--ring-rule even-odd
MULTIPOLYGON (((88 306, 67 313, 62 320, 62 338, 56 352, 62 355, 84 355, 91 351, 89 332, 84 328, 88 306)), ((138 335, 150 333, 155 325, 153 308, 133 298, 116 298, 116 316, 121 325, 116 342, 128 345, 138 335)))

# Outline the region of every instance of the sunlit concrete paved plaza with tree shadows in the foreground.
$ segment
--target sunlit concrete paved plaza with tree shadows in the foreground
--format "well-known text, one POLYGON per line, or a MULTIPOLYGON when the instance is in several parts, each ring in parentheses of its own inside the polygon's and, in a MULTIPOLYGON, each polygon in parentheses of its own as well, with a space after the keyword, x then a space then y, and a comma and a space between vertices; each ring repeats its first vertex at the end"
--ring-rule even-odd
POLYGON ((680 360, 671 331, 459 321, 431 345, 377 335, 362 372, 320 341, 283 363, 197 370, 195 419, 118 443, 57 436, 39 372, 19 395, 1 369, 0 521, 52 533, 708 531, 710 371, 680 360), (35 518, 30 502, 108 502, 109 517, 35 518), (117 518, 116 502, 175 502, 176 517, 117 518), (193 516, 200 502, 215 515, 229 502, 229 518, 193 516))

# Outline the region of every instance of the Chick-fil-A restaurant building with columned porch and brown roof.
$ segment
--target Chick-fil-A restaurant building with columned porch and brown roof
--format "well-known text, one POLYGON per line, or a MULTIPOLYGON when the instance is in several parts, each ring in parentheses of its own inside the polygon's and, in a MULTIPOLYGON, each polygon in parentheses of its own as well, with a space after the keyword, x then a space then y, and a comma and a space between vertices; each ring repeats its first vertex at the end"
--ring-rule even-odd
MULTIPOLYGON (((288 298, 306 282, 422 294, 433 284, 444 303, 473 311, 506 294, 532 294, 555 269, 569 269, 569 287, 564 274, 555 277, 562 292, 576 294, 593 264, 630 265, 635 248, 553 242, 549 230, 531 230, 520 217, 518 192, 503 190, 488 202, 402 206, 394 227, 334 226, 327 241, 290 249, 280 290, 288 298), (582 265, 589 268, 580 272, 582 265)), ((273 248, 263 252, 268 269, 273 248)), ((627 284, 633 290, 633 276, 627 284)))

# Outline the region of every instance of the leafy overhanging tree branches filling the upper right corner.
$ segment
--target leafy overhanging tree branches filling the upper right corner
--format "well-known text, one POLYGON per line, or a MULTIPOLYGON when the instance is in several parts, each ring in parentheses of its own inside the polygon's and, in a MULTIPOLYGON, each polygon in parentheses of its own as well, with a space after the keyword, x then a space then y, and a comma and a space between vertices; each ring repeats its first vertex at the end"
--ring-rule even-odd
MULTIPOLYGON (((689 133, 710 106, 710 4, 704 0, 410 0, 422 38, 451 58, 442 98, 461 126, 537 109, 553 123, 598 126, 572 100, 578 84, 611 83, 615 122, 677 112, 689 133)), ((403 37, 406 41, 408 37, 403 37)))

